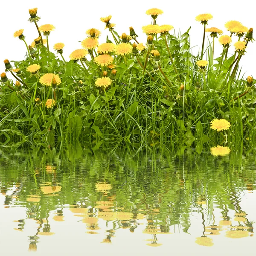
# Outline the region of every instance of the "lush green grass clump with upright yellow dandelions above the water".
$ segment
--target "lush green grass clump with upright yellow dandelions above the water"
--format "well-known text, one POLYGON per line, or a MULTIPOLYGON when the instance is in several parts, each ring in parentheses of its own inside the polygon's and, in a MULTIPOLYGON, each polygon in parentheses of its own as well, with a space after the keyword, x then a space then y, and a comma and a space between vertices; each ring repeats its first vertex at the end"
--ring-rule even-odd
POLYGON ((54 45, 56 54, 49 49, 55 27, 38 27, 36 8, 29 14, 39 37, 28 46, 23 29, 16 31, 26 44, 26 58, 12 64, 5 60, 6 73, 1 74, 2 145, 184 145, 198 152, 204 145, 255 145, 256 82, 252 76, 241 77, 239 70, 253 41, 252 28, 229 21, 225 26, 230 36, 222 35, 221 29, 207 28, 212 15, 198 15, 196 20, 204 25, 203 43, 193 55, 190 28, 172 34, 173 26, 157 24, 160 9, 147 11, 153 24, 142 28, 146 43, 137 40, 132 27, 130 35, 120 36, 109 15, 101 18, 111 35, 106 42, 99 44, 98 29, 88 29, 81 49, 71 52, 68 61, 63 43, 54 45), (206 32, 212 37, 207 47, 206 32), (223 46, 217 58, 215 38, 223 46), (232 40, 236 50, 228 56, 232 40), (210 129, 214 119, 230 122, 227 134, 210 129))

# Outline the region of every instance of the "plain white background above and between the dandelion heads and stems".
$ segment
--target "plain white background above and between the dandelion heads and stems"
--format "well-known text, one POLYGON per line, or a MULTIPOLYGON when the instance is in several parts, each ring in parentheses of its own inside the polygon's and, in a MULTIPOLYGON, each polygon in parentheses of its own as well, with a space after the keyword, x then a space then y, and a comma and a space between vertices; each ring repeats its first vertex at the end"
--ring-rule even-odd
MULTIPOLYGON (((28 9, 38 7, 38 16, 41 20, 38 25, 46 23, 53 24, 56 29, 49 36, 49 48, 53 52, 53 45, 63 42, 64 58, 69 60, 70 53, 81 48, 82 41, 87 36, 85 31, 97 28, 102 32, 100 43, 105 42, 106 35, 112 39, 108 30, 104 30, 105 24, 100 17, 112 15, 111 22, 116 23, 116 31, 121 35, 123 32, 129 34, 129 26, 133 26, 139 35, 138 41, 145 43, 141 27, 151 23, 151 17, 145 14, 150 8, 162 9, 164 14, 159 15, 157 24, 170 24, 181 33, 191 26, 191 47, 194 53, 201 48, 203 25, 195 21, 195 17, 202 13, 210 13, 213 19, 209 20, 208 27, 218 27, 224 31, 224 35, 230 35, 224 27, 229 20, 239 20, 244 26, 254 28, 256 38, 255 1, 253 0, 183 0, 183 1, 122 1, 122 0, 1 0, 0 14, 0 73, 4 72, 3 60, 21 60, 26 52, 25 44, 13 33, 18 29, 24 29, 23 34, 28 44, 38 37, 34 23, 29 23, 28 9)), ((173 33, 173 30, 171 31, 173 33)), ((207 33, 209 35, 209 33, 207 33)), ((210 39, 211 40, 211 39, 210 39)), ((233 43, 236 40, 233 39, 233 43)), ((215 57, 218 57, 222 47, 216 40, 215 57)), ((233 51, 231 47, 230 52, 233 51)), ((242 71, 246 76, 252 75, 256 78, 256 42, 248 44, 247 53, 241 59, 242 71)), ((240 66, 241 67, 241 66, 240 66)), ((9 77, 10 78, 10 77, 9 77)))

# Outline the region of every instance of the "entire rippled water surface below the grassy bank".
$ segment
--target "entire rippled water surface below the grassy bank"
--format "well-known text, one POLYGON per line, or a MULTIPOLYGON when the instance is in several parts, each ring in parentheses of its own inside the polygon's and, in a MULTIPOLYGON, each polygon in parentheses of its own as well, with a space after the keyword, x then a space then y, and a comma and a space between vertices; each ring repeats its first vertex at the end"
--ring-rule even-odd
POLYGON ((0 253, 255 255, 256 160, 0 151, 0 253))

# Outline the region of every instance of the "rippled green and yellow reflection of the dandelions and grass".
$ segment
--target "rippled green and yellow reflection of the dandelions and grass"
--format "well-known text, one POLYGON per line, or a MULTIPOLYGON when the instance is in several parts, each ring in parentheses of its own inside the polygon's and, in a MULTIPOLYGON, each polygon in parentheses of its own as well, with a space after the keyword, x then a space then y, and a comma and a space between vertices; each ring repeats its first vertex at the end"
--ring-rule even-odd
POLYGON ((43 236, 61 236, 57 224, 73 221, 103 244, 128 232, 140 234, 143 245, 160 247, 162 236, 186 233, 195 245, 212 247, 218 236, 253 236, 255 219, 241 198, 253 194, 255 170, 250 154, 2 152, 0 207, 26 209, 24 219, 15 213, 13 230, 29 229, 30 251, 43 236))

